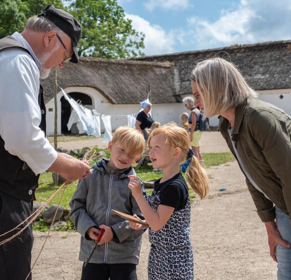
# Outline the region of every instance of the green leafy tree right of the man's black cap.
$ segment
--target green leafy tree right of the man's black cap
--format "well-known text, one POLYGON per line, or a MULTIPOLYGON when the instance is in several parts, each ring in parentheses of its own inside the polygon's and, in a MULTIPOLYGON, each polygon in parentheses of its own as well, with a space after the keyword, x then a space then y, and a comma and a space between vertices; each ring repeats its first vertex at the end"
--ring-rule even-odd
POLYGON ((83 28, 79 55, 113 59, 144 55, 145 35, 132 28, 116 0, 74 0, 69 11, 83 28))

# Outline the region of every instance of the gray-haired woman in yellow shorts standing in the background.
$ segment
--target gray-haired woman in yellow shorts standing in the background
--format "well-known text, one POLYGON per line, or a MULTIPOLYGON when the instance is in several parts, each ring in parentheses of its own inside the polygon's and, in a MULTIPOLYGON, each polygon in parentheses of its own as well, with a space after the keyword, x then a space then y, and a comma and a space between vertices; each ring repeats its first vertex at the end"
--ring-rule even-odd
POLYGON ((198 120, 201 117, 200 110, 195 106, 195 101, 193 97, 187 96, 182 100, 184 106, 191 111, 191 114, 188 118, 189 129, 190 129, 190 141, 192 150, 194 151, 195 156, 198 158, 199 162, 203 162, 203 157, 200 151, 200 140, 202 136, 202 132, 198 127, 198 120))

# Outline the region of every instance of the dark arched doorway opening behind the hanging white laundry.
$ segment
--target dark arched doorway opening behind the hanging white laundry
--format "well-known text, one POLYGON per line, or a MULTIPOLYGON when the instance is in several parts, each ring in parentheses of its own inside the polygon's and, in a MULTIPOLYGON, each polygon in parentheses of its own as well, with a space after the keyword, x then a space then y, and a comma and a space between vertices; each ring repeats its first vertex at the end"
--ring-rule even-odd
MULTIPOLYGON (((89 108, 92 108, 92 98, 81 92, 70 92, 68 93, 70 97, 75 99, 78 103, 81 102, 81 105, 89 108)), ((71 115, 71 105, 68 103, 68 101, 65 99, 64 96, 61 98, 61 133, 62 134, 71 134, 71 130, 68 130, 67 123, 69 121, 71 115)))

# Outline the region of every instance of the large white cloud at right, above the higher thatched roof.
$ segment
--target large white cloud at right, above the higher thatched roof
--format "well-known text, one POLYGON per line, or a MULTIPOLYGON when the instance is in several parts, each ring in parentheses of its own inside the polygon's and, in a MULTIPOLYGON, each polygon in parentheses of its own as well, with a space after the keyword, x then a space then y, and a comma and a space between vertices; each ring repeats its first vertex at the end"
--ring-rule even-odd
POLYGON ((291 39, 290 0, 241 0, 218 20, 188 19, 196 48, 291 39))

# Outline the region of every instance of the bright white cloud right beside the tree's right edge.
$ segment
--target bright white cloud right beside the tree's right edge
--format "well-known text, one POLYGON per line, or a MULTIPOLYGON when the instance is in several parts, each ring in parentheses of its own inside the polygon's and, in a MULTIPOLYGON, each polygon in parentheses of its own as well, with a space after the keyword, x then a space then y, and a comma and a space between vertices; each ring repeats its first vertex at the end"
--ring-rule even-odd
POLYGON ((136 31, 146 35, 145 49, 143 50, 146 55, 174 52, 174 31, 167 33, 161 26, 150 24, 146 19, 137 15, 126 14, 126 17, 132 20, 132 27, 136 31))

